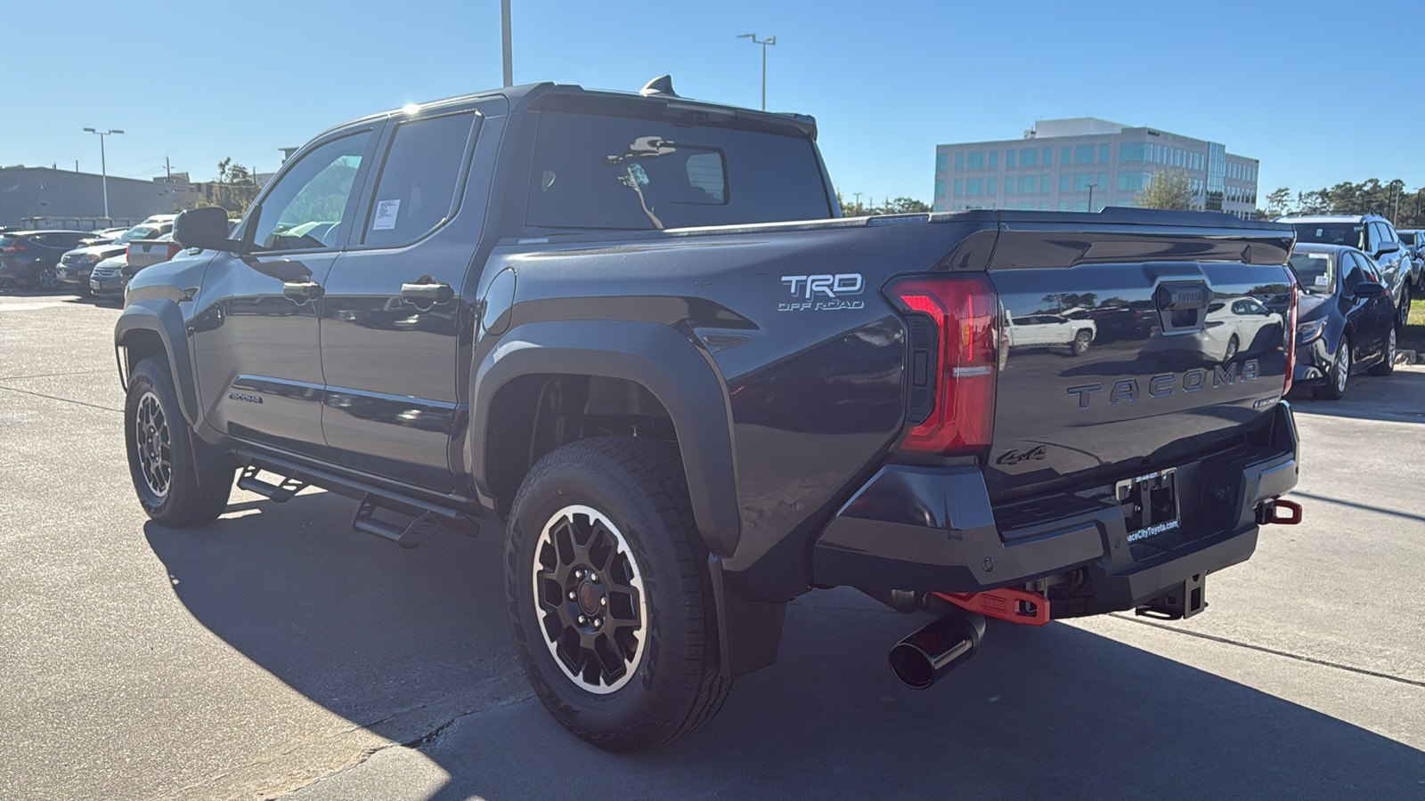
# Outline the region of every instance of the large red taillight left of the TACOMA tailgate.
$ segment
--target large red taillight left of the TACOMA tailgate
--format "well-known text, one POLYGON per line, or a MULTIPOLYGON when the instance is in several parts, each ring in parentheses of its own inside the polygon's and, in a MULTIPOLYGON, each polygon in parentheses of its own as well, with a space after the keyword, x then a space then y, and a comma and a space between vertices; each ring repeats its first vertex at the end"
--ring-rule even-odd
MULTIPOLYGON (((999 298, 983 275, 902 278, 886 294, 906 314, 935 322, 935 400, 902 450, 969 453, 989 448, 995 429, 999 298)), ((916 365, 911 365, 915 381, 916 365)))

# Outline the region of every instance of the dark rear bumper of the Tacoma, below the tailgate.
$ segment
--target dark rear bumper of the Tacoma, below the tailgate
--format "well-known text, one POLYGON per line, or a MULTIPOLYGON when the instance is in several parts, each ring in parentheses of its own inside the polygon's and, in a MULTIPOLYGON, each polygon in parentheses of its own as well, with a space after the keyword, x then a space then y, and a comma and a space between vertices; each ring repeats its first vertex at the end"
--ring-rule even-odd
POLYGON ((1093 611, 1131 609, 1251 556, 1258 505, 1297 485, 1290 405, 1278 406, 1263 442, 1178 466, 1178 476, 1181 530, 1130 544, 1112 485, 1106 497, 1090 489, 1037 499, 1026 524, 990 505, 978 467, 889 465, 822 532, 812 573, 821 586, 969 593, 1083 567, 1093 611))

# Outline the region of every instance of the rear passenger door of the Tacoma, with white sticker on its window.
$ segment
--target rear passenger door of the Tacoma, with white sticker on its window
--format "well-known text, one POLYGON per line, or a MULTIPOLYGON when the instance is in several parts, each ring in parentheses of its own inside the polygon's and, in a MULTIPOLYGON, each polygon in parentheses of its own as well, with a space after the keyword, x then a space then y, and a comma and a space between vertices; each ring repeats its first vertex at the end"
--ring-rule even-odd
POLYGON ((465 110, 389 128, 321 306, 322 429, 333 456, 443 493, 453 490, 450 448, 467 418, 457 356, 473 336, 463 292, 483 204, 459 195, 480 121, 465 110))

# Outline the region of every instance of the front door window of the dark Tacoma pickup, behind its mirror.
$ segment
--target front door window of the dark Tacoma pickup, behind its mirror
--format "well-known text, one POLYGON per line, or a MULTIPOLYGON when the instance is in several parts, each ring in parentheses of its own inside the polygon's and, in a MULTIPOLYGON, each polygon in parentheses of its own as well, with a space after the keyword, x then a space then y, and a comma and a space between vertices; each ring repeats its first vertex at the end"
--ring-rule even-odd
POLYGON ((332 140, 308 153, 262 200, 252 242, 262 251, 314 251, 336 247, 352 185, 370 131, 332 140))

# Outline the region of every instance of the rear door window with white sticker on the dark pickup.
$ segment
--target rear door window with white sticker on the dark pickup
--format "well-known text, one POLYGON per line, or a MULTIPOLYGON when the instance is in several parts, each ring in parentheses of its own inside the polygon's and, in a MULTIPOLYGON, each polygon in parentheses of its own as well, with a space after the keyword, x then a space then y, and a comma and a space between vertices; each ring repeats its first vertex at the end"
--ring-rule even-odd
POLYGON ((455 208, 473 113, 402 123, 380 167, 362 244, 415 242, 455 208))

